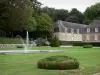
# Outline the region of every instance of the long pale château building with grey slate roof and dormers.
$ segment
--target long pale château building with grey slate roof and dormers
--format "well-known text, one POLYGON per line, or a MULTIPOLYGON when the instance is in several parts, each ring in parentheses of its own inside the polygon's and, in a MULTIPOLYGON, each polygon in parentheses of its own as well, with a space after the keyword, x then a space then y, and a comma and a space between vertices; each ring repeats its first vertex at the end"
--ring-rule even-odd
POLYGON ((58 20, 54 34, 60 41, 100 42, 100 20, 89 25, 58 20))

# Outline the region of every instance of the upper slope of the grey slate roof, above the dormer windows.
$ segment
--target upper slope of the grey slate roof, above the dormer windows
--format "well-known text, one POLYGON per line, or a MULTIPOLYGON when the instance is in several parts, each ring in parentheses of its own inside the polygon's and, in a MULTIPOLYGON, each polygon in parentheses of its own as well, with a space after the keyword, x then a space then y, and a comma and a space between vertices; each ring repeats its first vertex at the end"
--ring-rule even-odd
POLYGON ((58 20, 55 23, 54 28, 61 28, 61 27, 63 27, 60 23, 62 23, 62 25, 64 27, 66 27, 66 28, 73 28, 73 29, 100 27, 100 20, 95 20, 92 23, 90 23, 89 25, 77 24, 77 23, 71 23, 71 22, 66 22, 66 21, 58 20))

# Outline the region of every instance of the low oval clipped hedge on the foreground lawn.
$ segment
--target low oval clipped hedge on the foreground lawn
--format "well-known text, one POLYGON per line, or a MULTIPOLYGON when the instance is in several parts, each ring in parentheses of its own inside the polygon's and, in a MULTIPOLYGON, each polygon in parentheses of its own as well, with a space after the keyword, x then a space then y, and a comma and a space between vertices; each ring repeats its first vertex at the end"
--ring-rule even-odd
POLYGON ((79 62, 69 56, 51 56, 41 59, 37 63, 40 69, 68 70, 79 68, 79 62))

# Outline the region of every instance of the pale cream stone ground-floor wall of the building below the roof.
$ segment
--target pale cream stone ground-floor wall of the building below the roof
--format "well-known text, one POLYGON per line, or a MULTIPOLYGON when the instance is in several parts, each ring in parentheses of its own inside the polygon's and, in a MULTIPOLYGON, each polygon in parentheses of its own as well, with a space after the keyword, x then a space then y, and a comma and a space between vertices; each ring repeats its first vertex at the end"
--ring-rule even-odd
POLYGON ((100 33, 74 34, 56 32, 55 35, 60 41, 100 42, 100 33))

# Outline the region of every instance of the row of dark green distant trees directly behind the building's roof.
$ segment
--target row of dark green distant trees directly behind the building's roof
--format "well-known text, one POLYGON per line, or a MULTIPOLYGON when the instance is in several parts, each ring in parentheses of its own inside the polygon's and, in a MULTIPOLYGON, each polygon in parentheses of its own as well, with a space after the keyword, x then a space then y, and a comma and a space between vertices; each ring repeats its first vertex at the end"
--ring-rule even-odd
POLYGON ((74 23, 83 23, 84 20, 83 14, 76 8, 73 8, 69 12, 68 10, 65 9, 54 9, 54 8, 44 7, 42 8, 42 12, 47 13, 49 16, 51 16, 54 22, 58 20, 63 20, 74 23))

